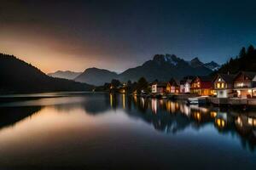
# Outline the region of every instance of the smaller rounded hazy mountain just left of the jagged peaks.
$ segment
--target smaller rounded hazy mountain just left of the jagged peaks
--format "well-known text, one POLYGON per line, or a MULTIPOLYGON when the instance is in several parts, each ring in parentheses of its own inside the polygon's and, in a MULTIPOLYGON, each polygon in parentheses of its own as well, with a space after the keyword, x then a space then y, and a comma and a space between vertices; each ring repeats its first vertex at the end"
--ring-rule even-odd
POLYGON ((118 78, 118 74, 113 71, 104 69, 89 68, 78 77, 74 78, 76 82, 90 82, 96 86, 103 85, 105 82, 111 82, 112 79, 118 78))

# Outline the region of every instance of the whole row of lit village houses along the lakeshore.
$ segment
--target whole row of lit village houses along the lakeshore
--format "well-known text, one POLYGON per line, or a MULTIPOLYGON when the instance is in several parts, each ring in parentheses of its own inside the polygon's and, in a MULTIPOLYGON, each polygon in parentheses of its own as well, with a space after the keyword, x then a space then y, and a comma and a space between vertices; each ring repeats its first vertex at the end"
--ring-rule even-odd
MULTIPOLYGON (((111 89, 110 92, 113 93, 111 89)), ((214 77, 183 77, 182 80, 171 78, 169 82, 150 82, 147 90, 140 88, 132 92, 124 83, 118 87, 118 92, 143 98, 182 99, 190 105, 256 106, 256 72, 219 73, 214 77)))

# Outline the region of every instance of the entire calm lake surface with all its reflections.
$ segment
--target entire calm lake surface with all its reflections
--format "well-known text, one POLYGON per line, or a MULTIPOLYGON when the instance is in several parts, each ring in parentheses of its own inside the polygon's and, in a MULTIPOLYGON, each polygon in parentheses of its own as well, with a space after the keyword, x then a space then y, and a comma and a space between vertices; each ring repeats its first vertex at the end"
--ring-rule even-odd
POLYGON ((109 94, 14 97, 0 103, 0 167, 256 168, 256 111, 109 94))

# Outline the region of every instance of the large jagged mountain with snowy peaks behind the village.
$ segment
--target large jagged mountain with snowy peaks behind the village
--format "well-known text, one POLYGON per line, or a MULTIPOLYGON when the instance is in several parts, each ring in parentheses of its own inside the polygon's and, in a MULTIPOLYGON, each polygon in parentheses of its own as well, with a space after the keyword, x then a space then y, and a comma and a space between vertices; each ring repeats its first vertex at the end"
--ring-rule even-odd
POLYGON ((145 77, 149 82, 158 79, 168 81, 171 77, 181 79, 185 76, 205 76, 212 72, 198 58, 185 61, 171 54, 156 54, 154 59, 148 60, 143 65, 128 69, 119 75, 121 81, 137 81, 145 77))

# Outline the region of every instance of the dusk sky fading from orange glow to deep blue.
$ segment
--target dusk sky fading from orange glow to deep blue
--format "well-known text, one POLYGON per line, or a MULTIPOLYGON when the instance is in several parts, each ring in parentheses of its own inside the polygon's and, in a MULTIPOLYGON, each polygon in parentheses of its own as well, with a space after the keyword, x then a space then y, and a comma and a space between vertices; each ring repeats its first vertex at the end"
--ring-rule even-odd
POLYGON ((120 72, 154 54, 223 64, 250 44, 254 0, 0 0, 0 53, 46 73, 120 72))

